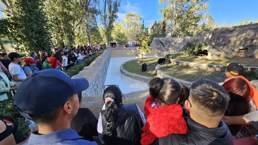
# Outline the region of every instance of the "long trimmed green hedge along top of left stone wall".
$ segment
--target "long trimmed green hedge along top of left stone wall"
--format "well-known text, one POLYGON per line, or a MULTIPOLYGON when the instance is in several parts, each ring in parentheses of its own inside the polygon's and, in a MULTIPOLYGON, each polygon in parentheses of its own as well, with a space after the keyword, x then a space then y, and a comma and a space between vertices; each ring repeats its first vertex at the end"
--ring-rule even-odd
POLYGON ((70 67, 68 70, 65 70, 64 72, 70 77, 77 75, 85 66, 89 66, 95 58, 102 54, 103 51, 104 50, 98 51, 96 54, 92 55, 89 58, 86 58, 81 63, 70 67))

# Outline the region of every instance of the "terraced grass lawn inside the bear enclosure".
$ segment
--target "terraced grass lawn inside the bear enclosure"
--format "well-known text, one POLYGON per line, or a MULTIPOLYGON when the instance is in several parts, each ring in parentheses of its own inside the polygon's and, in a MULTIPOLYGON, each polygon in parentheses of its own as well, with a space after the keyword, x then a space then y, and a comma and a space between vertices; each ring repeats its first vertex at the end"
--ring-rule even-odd
MULTIPOLYGON (((129 72, 133 72, 142 76, 149 76, 149 77, 157 77, 155 74, 155 66, 157 63, 149 65, 146 72, 142 72, 142 64, 143 63, 151 63, 157 61, 159 58, 143 58, 143 62, 136 62, 135 60, 127 61, 123 67, 125 70, 129 72)), ((258 66, 257 62, 253 61, 245 61, 245 60, 236 60, 231 58, 218 58, 218 59, 200 59, 195 57, 186 57, 183 56, 181 53, 176 53, 172 55, 173 59, 181 60, 181 61, 189 61, 189 62, 196 62, 196 63, 204 63, 204 64, 213 64, 213 65, 226 65, 227 63, 231 62, 238 62, 243 66, 258 66)), ((224 82, 227 78, 225 72, 216 72, 216 71, 206 71, 197 68, 191 68, 187 66, 179 66, 174 64, 164 64, 160 67, 161 71, 168 74, 169 76, 173 76, 175 78, 186 80, 189 82, 193 82, 199 79, 210 79, 214 80, 215 82, 224 82)))

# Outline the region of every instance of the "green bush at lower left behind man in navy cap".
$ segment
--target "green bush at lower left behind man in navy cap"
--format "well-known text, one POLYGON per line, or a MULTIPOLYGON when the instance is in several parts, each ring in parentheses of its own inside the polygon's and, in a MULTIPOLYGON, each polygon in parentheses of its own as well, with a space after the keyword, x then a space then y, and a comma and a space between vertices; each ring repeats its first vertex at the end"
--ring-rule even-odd
POLYGON ((13 105, 13 98, 11 100, 4 100, 0 102, 0 115, 13 117, 15 121, 18 122, 18 130, 23 132, 25 137, 28 136, 30 128, 28 128, 28 122, 25 122, 25 117, 23 117, 19 112, 18 108, 13 105))

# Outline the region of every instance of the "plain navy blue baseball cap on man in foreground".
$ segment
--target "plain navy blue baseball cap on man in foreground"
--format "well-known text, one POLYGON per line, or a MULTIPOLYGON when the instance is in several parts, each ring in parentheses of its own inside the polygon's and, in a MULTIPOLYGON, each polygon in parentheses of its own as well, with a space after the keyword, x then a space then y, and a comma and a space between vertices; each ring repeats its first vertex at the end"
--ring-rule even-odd
POLYGON ((21 82, 13 104, 22 116, 32 119, 57 109, 88 87, 89 82, 83 77, 70 78, 58 69, 45 69, 21 82))

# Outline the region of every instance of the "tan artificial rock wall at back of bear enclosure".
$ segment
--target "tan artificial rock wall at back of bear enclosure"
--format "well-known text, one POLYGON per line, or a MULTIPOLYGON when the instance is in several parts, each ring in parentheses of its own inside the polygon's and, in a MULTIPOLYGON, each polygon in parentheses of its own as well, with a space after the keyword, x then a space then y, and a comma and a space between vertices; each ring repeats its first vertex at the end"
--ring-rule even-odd
POLYGON ((160 52, 179 52, 188 41, 198 39, 216 46, 208 47, 208 58, 232 58, 236 56, 258 58, 258 23, 199 32, 192 37, 154 38, 150 47, 160 52))

